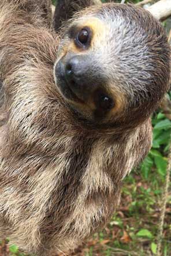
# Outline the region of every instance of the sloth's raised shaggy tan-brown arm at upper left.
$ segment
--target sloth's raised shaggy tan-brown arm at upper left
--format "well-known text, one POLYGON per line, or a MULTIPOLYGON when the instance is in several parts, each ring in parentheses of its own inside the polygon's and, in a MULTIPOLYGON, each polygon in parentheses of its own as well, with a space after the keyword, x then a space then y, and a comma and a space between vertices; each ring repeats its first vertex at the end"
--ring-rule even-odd
MULTIPOLYGON (((49 1, 43 0, 41 2, 43 5, 43 3, 49 1)), ((23 83, 24 78, 26 79, 33 67, 38 65, 38 62, 41 65, 39 69, 37 68, 38 71, 43 69, 43 63, 49 65, 50 71, 53 69, 51 67, 53 67, 55 61, 57 38, 53 38, 49 25, 46 23, 46 17, 44 18, 44 16, 37 13, 37 3, 37 0, 0 1, 1 114, 3 101, 11 103, 13 93, 16 94, 20 83, 23 83), (18 79, 19 76, 20 79, 18 79)), ((48 5, 46 7, 48 8, 48 5)), ((32 74, 36 76, 38 74, 37 70, 34 70, 32 74)), ((34 78, 34 75, 31 77, 34 78)), ((30 82, 25 80, 25 89, 28 89, 28 86, 26 86, 28 83, 30 82)), ((6 106, 6 104, 4 105, 6 106)))

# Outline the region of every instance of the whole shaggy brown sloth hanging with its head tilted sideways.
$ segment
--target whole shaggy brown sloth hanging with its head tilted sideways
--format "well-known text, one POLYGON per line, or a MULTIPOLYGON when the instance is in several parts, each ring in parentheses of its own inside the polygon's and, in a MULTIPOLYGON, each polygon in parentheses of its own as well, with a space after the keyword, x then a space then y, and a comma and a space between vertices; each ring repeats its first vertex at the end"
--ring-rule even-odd
POLYGON ((73 250, 110 220, 151 147, 167 36, 116 3, 80 11, 60 36, 48 0, 1 0, 0 19, 0 237, 37 255, 73 250))

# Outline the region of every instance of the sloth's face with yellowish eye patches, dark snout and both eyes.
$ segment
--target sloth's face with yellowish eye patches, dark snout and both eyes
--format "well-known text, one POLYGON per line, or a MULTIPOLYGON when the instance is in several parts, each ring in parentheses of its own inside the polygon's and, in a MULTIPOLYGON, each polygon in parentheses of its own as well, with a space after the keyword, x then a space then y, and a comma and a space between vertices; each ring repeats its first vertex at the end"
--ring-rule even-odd
POLYGON ((116 113, 124 100, 112 92, 100 61, 105 58, 104 50, 100 50, 105 33, 105 24, 97 18, 73 24, 61 43, 55 64, 56 83, 65 100, 87 119, 102 122, 116 113))

